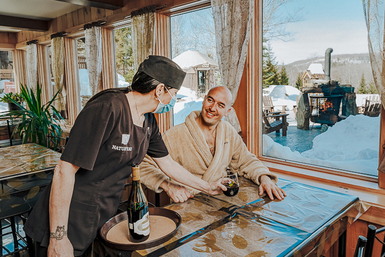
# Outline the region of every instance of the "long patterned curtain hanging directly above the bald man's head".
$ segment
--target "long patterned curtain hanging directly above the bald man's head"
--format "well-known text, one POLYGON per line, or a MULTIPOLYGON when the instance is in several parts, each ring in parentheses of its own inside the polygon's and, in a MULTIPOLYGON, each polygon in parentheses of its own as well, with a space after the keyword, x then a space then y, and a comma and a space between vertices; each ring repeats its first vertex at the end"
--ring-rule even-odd
MULTIPOLYGON (((245 67, 254 2, 254 0, 211 0, 222 84, 233 94, 232 105, 237 99, 245 67)), ((226 116, 226 120, 238 133, 241 132, 234 108, 226 116)))

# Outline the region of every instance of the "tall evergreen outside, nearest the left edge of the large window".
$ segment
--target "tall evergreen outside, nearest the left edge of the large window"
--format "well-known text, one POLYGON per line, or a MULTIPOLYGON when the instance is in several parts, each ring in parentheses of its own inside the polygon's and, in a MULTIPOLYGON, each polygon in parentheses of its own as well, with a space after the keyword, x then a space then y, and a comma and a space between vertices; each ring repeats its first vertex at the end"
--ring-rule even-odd
POLYGON ((275 57, 269 44, 263 47, 262 65, 263 88, 267 88, 270 85, 278 85, 280 77, 277 69, 277 64, 275 63, 275 57))

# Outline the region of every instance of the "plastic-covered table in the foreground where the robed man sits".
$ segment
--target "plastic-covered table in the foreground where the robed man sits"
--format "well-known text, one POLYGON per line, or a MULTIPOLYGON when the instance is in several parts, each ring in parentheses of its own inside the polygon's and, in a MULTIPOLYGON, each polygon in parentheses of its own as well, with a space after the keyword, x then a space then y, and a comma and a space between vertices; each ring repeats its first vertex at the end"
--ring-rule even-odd
MULTIPOLYGON (((114 250, 101 239, 95 256, 320 256, 340 240, 348 219, 359 214, 355 196, 280 179, 287 197, 260 198, 258 187, 240 178, 235 197, 198 194, 165 208, 182 224, 162 245, 137 251, 114 250)), ((343 246, 343 245, 341 245, 343 246)))

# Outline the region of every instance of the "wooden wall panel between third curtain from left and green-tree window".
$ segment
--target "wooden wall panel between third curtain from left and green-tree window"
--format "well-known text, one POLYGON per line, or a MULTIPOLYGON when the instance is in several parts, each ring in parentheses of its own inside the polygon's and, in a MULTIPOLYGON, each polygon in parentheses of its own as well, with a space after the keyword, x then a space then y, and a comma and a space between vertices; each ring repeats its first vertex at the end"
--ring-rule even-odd
POLYGON ((102 32, 102 83, 103 89, 115 88, 115 56, 113 31, 101 29, 102 32))

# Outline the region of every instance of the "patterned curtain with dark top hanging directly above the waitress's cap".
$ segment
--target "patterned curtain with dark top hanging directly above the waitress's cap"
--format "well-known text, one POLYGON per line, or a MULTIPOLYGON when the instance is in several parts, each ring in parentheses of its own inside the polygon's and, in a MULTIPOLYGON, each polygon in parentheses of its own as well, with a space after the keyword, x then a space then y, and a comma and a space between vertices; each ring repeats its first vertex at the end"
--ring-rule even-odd
POLYGON ((154 54, 155 46, 155 6, 149 6, 131 12, 132 53, 134 55, 134 70, 139 64, 154 54))

